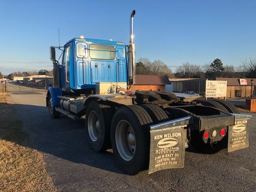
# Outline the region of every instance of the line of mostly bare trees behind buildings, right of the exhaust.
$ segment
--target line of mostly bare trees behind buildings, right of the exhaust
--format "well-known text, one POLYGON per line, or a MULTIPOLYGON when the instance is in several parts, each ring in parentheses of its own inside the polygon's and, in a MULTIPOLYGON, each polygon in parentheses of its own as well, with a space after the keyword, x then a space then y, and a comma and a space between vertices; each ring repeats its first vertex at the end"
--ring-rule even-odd
POLYGON ((184 62, 176 67, 176 73, 160 60, 150 62, 148 58, 139 58, 136 63, 136 74, 165 75, 168 78, 256 78, 256 58, 244 60, 239 66, 223 65, 222 61, 216 58, 203 66, 184 62))

